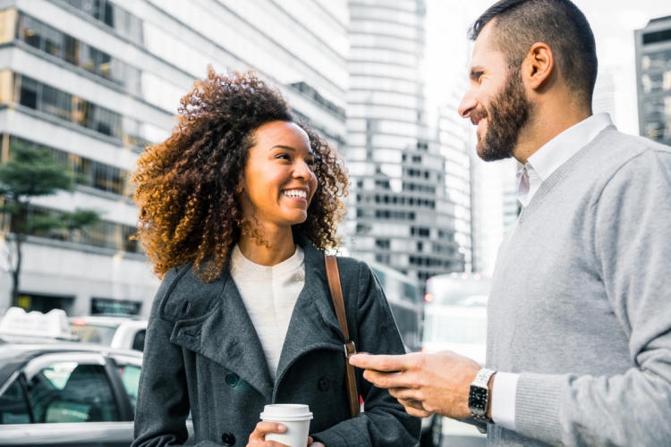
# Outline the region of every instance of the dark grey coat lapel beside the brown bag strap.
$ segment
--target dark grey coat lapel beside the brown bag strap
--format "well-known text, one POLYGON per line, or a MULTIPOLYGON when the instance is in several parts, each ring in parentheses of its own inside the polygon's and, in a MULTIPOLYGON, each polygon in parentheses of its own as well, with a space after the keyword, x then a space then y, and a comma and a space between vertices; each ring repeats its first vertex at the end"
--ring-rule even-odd
POLYGON ((327 286, 324 255, 304 236, 297 235, 296 240, 305 254, 305 286, 296 300, 286 331, 276 384, 296 359, 311 350, 344 350, 344 335, 338 325, 327 286))

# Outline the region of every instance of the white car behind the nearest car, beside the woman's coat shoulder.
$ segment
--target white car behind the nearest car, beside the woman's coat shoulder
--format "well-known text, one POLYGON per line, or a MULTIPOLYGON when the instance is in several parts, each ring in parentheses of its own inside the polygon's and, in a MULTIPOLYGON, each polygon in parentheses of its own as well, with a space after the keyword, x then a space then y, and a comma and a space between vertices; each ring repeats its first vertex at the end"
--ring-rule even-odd
POLYGON ((70 331, 81 342, 124 350, 144 350, 147 320, 128 316, 70 317, 70 331))

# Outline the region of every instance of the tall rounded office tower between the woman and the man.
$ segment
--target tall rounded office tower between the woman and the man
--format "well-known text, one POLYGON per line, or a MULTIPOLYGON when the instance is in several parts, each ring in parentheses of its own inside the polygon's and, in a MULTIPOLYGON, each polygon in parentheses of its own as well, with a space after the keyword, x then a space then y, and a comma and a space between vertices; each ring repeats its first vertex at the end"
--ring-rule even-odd
POLYGON ((420 283, 463 271, 445 187, 446 157, 436 131, 429 131, 420 80, 425 4, 349 5, 346 158, 356 189, 349 244, 359 256, 420 283))

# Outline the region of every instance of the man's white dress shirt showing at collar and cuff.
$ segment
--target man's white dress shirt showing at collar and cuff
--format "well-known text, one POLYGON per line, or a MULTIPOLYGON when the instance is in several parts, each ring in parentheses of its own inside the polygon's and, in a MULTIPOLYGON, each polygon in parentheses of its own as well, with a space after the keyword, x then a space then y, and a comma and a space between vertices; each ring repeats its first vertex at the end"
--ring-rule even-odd
MULTIPOLYGON (((587 146, 613 122, 608 114, 595 114, 550 139, 527 160, 517 173, 517 199, 528 207, 540 184, 556 169, 587 146)), ((515 429, 515 394, 520 375, 497 372, 492 384, 491 416, 495 424, 508 430, 515 429)))

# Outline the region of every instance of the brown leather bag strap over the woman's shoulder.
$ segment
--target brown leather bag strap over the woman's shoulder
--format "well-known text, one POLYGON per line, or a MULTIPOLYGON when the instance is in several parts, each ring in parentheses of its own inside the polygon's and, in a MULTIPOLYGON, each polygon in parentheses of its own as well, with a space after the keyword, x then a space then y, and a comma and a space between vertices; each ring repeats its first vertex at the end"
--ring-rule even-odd
POLYGON ((344 369, 345 384, 347 384, 347 398, 350 401, 350 414, 356 417, 361 407, 359 406, 359 392, 356 391, 356 377, 354 367, 350 365, 349 358, 356 354, 356 346, 350 340, 350 332, 347 330, 347 316, 344 311, 343 286, 340 284, 340 272, 338 271, 338 261, 335 256, 324 255, 324 262, 327 266, 328 289, 331 291, 335 316, 338 318, 340 330, 344 335, 344 369))

